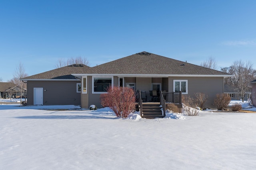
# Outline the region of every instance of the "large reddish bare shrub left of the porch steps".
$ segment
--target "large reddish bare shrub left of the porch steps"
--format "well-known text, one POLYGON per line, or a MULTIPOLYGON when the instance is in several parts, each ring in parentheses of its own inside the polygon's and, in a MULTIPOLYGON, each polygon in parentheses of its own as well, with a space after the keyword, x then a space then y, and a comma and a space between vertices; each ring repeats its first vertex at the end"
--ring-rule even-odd
POLYGON ((117 117, 126 118, 135 110, 135 94, 131 88, 110 86, 107 92, 100 96, 101 105, 110 107, 117 117))

